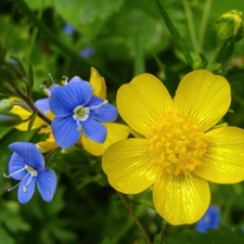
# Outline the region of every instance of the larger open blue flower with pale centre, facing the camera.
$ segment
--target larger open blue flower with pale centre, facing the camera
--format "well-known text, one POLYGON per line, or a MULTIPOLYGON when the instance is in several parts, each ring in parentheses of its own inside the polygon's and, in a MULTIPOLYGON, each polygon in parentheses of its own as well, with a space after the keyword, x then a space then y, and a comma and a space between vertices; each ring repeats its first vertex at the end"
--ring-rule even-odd
POLYGON ((81 131, 92 141, 103 143, 106 128, 100 121, 114 121, 117 118, 115 106, 92 94, 88 81, 69 82, 57 87, 49 99, 51 112, 55 115, 51 128, 61 147, 74 145, 81 131))

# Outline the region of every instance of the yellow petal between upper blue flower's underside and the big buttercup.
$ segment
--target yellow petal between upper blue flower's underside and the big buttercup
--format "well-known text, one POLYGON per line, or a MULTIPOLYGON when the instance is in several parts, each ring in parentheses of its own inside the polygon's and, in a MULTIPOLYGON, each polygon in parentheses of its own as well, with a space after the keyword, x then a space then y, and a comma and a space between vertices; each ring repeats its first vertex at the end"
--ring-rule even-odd
POLYGON ((90 140, 82 133, 81 144, 86 151, 94 156, 102 156, 104 151, 113 143, 125 140, 129 136, 129 127, 116 123, 103 123, 106 127, 107 136, 103 143, 98 143, 90 140))

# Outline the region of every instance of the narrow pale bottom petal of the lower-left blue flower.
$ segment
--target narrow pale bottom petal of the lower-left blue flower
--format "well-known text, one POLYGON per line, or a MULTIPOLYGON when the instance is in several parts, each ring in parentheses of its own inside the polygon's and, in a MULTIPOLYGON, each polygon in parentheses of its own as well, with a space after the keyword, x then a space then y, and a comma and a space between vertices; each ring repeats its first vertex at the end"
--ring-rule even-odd
MULTIPOLYGON (((29 175, 29 177, 30 177, 30 175, 29 175)), ((18 202, 21 204, 27 203, 31 198, 31 196, 33 196, 33 194, 35 192, 35 181, 36 181, 36 178, 35 177, 33 178, 30 184, 28 185, 28 189, 27 189, 28 191, 27 192, 24 192, 23 191, 24 185, 26 185, 29 177, 27 177, 26 179, 24 179, 21 182, 21 184, 18 187, 18 190, 17 190, 17 200, 18 200, 18 202)))

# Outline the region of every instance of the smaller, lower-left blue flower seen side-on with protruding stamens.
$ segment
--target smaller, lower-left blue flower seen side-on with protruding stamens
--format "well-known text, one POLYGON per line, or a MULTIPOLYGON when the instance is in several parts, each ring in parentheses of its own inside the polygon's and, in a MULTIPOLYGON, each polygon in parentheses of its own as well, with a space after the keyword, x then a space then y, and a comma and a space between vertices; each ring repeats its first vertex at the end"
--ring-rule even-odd
POLYGON ((21 180, 11 191, 18 187, 17 200, 20 203, 27 203, 37 189, 46 202, 52 201, 56 189, 56 175, 48 167, 44 167, 44 158, 37 146, 29 142, 15 142, 9 145, 14 153, 9 163, 10 175, 4 177, 21 180))

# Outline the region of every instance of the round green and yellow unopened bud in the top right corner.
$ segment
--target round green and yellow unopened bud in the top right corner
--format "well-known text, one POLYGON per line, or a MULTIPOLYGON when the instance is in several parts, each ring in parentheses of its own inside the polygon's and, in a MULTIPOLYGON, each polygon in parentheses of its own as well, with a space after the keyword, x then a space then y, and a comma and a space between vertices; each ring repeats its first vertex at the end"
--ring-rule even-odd
POLYGON ((244 20, 242 12, 236 10, 222 14, 213 28, 221 40, 240 41, 244 35, 244 20))

